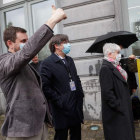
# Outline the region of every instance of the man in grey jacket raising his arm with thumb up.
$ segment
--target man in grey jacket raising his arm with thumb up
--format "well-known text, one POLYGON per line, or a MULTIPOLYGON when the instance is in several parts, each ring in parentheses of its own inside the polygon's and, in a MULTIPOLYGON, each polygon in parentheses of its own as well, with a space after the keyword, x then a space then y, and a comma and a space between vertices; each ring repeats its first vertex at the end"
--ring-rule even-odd
POLYGON ((28 63, 51 39, 54 26, 67 18, 62 9, 52 8, 51 18, 29 39, 26 30, 19 27, 4 31, 8 53, 0 56, 0 87, 7 101, 2 125, 7 140, 47 139, 46 121, 51 123, 51 117, 46 115, 41 78, 28 63))

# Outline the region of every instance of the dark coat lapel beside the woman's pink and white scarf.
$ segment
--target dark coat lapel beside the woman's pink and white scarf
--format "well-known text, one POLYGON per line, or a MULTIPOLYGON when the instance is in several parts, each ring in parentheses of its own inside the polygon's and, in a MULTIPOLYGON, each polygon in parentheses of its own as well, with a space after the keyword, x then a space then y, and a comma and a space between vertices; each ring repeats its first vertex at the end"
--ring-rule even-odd
POLYGON ((127 84, 127 81, 123 78, 121 73, 117 70, 117 68, 115 68, 115 66, 112 63, 108 62, 107 60, 103 60, 103 65, 109 66, 109 68, 113 70, 113 74, 127 84))

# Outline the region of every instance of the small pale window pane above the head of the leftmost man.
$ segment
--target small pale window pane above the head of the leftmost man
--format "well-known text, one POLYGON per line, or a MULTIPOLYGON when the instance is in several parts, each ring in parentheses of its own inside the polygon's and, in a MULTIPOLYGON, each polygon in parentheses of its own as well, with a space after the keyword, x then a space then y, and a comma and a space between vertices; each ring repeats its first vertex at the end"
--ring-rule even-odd
POLYGON ((25 28, 24 9, 19 8, 16 10, 5 12, 5 20, 6 28, 9 26, 25 28))

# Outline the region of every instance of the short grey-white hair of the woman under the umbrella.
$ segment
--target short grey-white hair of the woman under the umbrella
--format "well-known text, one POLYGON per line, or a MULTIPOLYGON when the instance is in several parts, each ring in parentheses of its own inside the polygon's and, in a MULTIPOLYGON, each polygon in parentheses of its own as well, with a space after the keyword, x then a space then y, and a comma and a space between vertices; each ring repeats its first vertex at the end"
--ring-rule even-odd
POLYGON ((115 51, 120 51, 121 48, 114 43, 106 43, 103 47, 103 54, 105 57, 108 57, 109 53, 114 53, 115 51))

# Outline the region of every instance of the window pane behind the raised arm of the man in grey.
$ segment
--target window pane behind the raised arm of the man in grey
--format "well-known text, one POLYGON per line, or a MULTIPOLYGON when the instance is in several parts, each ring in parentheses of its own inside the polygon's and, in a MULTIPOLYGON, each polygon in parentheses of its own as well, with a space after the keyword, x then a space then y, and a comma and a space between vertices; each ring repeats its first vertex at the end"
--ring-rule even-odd
MULTIPOLYGON (((32 17, 33 17, 33 29, 34 32, 39 29, 43 24, 46 23, 47 19, 51 17, 52 5, 55 5, 54 0, 44 1, 40 3, 33 4, 32 7, 32 17), (47 13, 47 14, 46 14, 47 13)), ((57 34, 57 26, 53 29, 54 33, 57 34)), ((50 50, 48 44, 39 52, 39 60, 44 60, 50 55, 50 50)))

